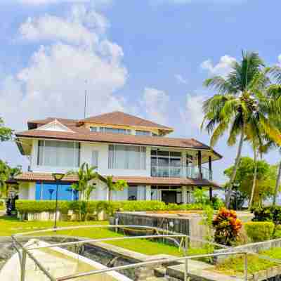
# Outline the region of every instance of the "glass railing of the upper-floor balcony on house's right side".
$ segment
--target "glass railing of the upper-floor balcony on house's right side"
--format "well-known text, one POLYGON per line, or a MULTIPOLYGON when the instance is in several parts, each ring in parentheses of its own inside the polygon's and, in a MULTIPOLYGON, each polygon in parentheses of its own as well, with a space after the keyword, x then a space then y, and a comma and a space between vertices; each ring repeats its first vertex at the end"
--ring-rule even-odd
POLYGON ((212 172, 202 167, 202 176, 198 166, 151 166, 151 176, 162 178, 194 178, 212 180, 212 172))

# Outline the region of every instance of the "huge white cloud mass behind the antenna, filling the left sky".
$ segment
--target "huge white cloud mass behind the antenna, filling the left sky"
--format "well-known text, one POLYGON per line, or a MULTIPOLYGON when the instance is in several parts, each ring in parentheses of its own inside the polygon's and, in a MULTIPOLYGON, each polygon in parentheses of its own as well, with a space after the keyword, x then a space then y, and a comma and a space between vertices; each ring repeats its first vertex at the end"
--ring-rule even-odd
POLYGON ((51 43, 40 46, 26 67, 1 83, 1 116, 13 128, 22 129, 27 119, 83 117, 85 89, 88 116, 124 110, 126 100, 115 94, 127 78, 122 48, 106 39, 105 29, 89 28, 73 11, 67 18, 44 15, 29 23, 32 32, 25 32, 27 41, 41 44, 48 38, 51 43), (58 34, 51 31, 54 23, 58 34), (73 36, 69 32, 72 27, 77 33, 73 36), (96 38, 94 48, 88 46, 91 38, 96 38))

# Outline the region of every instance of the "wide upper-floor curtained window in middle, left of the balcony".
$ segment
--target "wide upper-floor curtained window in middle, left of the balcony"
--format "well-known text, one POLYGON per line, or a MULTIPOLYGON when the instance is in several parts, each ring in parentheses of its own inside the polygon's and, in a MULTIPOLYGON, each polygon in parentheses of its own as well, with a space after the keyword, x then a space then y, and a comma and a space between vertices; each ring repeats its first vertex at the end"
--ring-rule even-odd
POLYGON ((110 145, 109 169, 146 169, 146 148, 134 145, 110 145))

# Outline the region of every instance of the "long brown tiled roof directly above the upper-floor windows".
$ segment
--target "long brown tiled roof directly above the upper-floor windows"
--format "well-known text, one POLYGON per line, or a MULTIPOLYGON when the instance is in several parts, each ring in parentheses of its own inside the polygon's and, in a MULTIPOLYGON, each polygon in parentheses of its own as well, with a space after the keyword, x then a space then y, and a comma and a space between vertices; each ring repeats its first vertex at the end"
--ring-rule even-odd
MULTIPOLYGON (((44 131, 40 129, 34 129, 29 131, 23 131, 15 133, 18 138, 48 138, 48 139, 60 139, 69 141, 89 141, 98 143, 122 143, 131 145, 151 145, 170 148, 197 148, 202 150, 211 150, 208 145, 196 141, 194 138, 166 138, 155 136, 134 136, 124 135, 121 133, 100 133, 91 132, 89 129, 71 127, 74 131, 62 132, 62 131, 44 131)), ((219 158, 217 152, 214 152, 219 158)))

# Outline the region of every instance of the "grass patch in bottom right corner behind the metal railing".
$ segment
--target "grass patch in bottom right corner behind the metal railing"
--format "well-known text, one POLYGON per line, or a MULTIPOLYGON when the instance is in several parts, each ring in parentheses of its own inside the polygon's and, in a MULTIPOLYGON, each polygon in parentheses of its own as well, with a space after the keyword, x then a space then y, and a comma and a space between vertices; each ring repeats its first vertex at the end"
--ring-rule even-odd
MULTIPOLYGON (((268 256, 272 259, 281 259, 281 248, 272 248, 267 251, 261 251, 259 254, 262 256, 268 256)), ((256 255, 248 255, 248 273, 256 273, 259 270, 266 270, 277 265, 280 264, 261 259, 256 255)), ((241 255, 236 255, 229 259, 226 259, 226 261, 216 266, 216 270, 227 273, 229 275, 235 275, 235 273, 243 273, 244 257, 241 255)))

